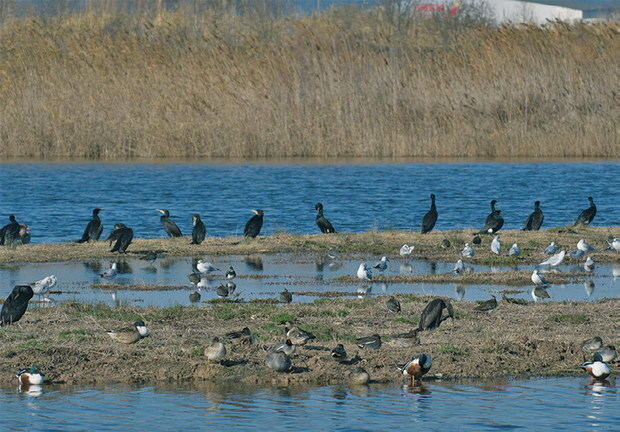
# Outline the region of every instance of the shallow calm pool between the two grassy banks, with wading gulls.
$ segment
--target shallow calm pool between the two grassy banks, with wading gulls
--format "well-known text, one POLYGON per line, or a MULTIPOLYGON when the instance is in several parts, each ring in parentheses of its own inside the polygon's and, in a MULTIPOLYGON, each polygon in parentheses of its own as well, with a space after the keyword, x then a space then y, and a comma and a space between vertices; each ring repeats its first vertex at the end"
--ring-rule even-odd
MULTIPOLYGON (((251 300, 256 298, 277 299, 279 293, 287 288, 293 293, 293 302, 308 302, 321 297, 321 293, 338 291, 353 297, 358 289, 370 288, 364 296, 395 293, 417 293, 452 297, 455 300, 486 300, 491 294, 501 297, 504 289, 517 290, 510 297, 534 300, 532 287, 506 287, 494 285, 458 285, 454 283, 343 283, 335 280, 338 276, 354 275, 362 260, 373 263, 379 257, 357 257, 333 260, 325 255, 269 254, 253 256, 216 256, 212 262, 221 271, 198 284, 192 284, 188 275, 192 272, 192 258, 165 257, 151 263, 140 259, 123 259, 119 262, 122 271, 113 281, 103 279, 99 274, 110 267, 110 260, 89 260, 86 262, 48 262, 28 264, 4 264, 0 266, 0 297, 6 297, 13 286, 31 283, 50 274, 56 275, 58 284, 54 290, 59 295, 49 295, 54 302, 78 301, 89 303, 108 303, 110 305, 130 304, 140 306, 189 305, 189 294, 198 290, 200 301, 217 298, 216 288, 225 282, 224 272, 233 265, 238 273, 234 280, 237 288, 233 298, 251 300), (177 289, 165 291, 137 291, 93 288, 93 284, 110 283, 120 285, 146 284, 173 286, 177 289), (297 295, 297 292, 312 292, 314 295, 297 295)), ((416 259, 393 258, 384 275, 419 275, 429 273, 450 273, 454 264, 435 263, 416 259)), ((532 265, 518 267, 489 267, 474 265, 472 271, 507 272, 528 270, 532 265)), ((620 264, 598 264, 593 272, 586 272, 582 266, 566 264, 560 271, 579 273, 582 282, 565 285, 552 285, 547 289, 549 299, 543 301, 586 300, 596 301, 605 297, 620 296, 620 264)), ((379 273, 379 272, 377 272, 379 273)), ((529 279, 528 279, 529 281, 529 279)), ((36 299, 36 298, 35 298, 36 299)), ((49 304, 51 305, 51 304, 49 304)))

